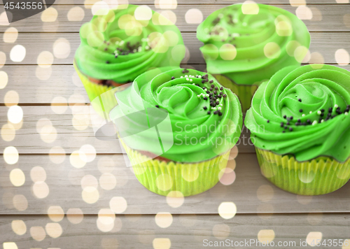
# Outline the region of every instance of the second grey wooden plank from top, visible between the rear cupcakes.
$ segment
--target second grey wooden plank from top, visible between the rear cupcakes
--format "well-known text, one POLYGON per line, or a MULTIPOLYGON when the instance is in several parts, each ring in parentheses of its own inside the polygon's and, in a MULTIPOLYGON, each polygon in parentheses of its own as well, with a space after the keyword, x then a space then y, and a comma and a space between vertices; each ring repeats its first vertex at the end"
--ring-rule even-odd
MULTIPOLYGON (((197 40, 195 33, 183 33, 183 41, 188 48, 188 64, 204 64, 199 48, 202 43, 197 40)), ((78 45, 80 44, 79 35, 76 33, 55 33, 55 34, 21 34, 16 43, 26 48, 26 55, 22 62, 11 62, 10 50, 12 43, 0 43, 0 51, 5 52, 7 64, 36 64, 38 55, 43 51, 52 53, 52 45, 59 38, 65 38, 70 45, 69 55, 63 59, 55 58, 53 64, 72 64, 73 57, 78 45), (36 42, 33 42, 36 41, 36 42)), ((336 63, 335 52, 339 48, 350 50, 350 32, 319 32, 311 33, 310 52, 321 52, 325 63, 336 63)), ((67 53, 68 54, 68 53, 67 53)))

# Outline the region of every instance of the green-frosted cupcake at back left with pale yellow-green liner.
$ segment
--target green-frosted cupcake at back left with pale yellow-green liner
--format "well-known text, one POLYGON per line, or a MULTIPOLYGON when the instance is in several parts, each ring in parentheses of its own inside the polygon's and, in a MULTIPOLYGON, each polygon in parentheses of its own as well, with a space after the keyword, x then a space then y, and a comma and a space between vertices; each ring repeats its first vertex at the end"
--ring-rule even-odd
POLYGON ((179 67, 185 55, 179 29, 147 6, 99 10, 79 34, 74 67, 92 106, 107 115, 125 83, 158 66, 179 67), (102 104, 93 101, 99 96, 102 104))

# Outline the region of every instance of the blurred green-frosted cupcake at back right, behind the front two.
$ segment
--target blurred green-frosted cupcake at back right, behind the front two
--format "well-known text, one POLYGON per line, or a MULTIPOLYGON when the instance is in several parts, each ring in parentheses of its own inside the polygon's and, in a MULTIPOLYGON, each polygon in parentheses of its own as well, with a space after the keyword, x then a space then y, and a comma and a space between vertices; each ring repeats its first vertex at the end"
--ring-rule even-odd
POLYGON ((235 92, 243 112, 258 85, 300 65, 310 44, 305 24, 281 8, 239 3, 211 13, 197 28, 207 71, 235 92))

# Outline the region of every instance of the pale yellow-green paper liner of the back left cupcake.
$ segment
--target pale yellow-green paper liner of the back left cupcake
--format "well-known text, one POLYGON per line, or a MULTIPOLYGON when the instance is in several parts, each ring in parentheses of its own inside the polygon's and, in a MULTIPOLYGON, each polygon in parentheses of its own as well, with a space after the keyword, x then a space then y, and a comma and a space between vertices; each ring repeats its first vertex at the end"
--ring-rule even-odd
POLYGON ((118 105, 114 94, 123 89, 121 89, 121 87, 109 87, 106 85, 98 85, 97 83, 93 83, 78 69, 75 62, 73 62, 73 65, 85 87, 87 96, 90 99, 94 111, 102 116, 102 118, 109 120, 109 112, 118 105))

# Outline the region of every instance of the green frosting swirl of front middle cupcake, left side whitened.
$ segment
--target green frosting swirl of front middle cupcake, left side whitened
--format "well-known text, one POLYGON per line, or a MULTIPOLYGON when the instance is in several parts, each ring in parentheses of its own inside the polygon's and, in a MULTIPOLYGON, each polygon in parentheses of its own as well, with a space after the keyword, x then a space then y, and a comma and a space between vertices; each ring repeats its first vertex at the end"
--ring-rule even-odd
POLYGON ((147 71, 116 98, 119 105, 110 117, 123 142, 175 162, 222 155, 241 133, 237 96, 193 69, 147 71))

